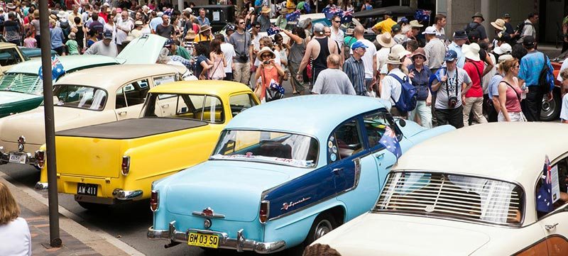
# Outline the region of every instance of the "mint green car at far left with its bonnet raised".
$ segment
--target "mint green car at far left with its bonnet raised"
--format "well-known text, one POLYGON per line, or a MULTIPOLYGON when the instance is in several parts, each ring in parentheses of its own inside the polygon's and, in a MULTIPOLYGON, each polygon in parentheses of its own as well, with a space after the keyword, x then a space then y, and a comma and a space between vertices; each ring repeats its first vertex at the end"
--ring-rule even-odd
MULTIPOLYGON (((65 74, 91 67, 118 64, 154 64, 158 60, 158 55, 164 43, 165 38, 159 35, 143 35, 129 43, 116 58, 100 55, 58 57, 65 73, 57 79, 64 77, 65 74)), ((13 47, 17 49, 15 45, 13 47)), ((0 78, 0 118, 31 110, 41 104, 43 101, 43 80, 38 76, 40 67, 41 60, 30 60, 15 65, 4 72, 6 76, 0 78)), ((54 79, 54 84, 57 79, 54 79)))

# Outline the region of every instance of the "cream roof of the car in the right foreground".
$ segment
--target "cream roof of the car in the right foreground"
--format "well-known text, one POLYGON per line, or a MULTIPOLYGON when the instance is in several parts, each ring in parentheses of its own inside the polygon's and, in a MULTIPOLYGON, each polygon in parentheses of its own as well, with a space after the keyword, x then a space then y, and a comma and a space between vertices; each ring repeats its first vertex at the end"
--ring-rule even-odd
POLYGON ((568 151, 566 140, 560 139, 567 130, 566 124, 536 122, 460 128, 410 148, 393 170, 461 173, 533 187, 545 155, 554 161, 568 151))

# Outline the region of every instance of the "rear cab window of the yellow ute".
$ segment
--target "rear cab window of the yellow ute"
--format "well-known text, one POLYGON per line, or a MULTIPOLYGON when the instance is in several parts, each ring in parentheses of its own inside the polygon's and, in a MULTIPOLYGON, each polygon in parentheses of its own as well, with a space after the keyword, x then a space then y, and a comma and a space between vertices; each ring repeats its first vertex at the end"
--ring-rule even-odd
POLYGON ((223 123, 225 111, 221 99, 204 94, 148 94, 142 117, 188 118, 209 123, 223 123))

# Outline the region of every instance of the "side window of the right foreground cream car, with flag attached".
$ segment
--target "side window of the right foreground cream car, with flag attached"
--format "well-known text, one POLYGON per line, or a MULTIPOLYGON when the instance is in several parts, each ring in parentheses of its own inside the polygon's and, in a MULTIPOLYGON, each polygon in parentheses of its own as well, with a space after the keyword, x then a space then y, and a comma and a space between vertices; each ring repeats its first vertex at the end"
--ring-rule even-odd
POLYGON ((538 218, 542 218, 542 216, 545 216, 552 211, 556 211, 557 208, 568 204, 568 157, 565 157, 552 165, 550 168, 550 174, 551 179, 547 181, 545 173, 541 172, 540 177, 536 182, 535 200, 537 202, 538 218), (555 173, 558 173, 557 180, 553 177, 555 176, 555 173), (550 184, 547 182, 550 182, 550 184), (559 194, 556 195, 554 193, 554 189, 552 189, 549 194, 549 190, 547 188, 555 187, 555 182, 557 182, 559 194), (547 207, 549 205, 550 207, 547 207))

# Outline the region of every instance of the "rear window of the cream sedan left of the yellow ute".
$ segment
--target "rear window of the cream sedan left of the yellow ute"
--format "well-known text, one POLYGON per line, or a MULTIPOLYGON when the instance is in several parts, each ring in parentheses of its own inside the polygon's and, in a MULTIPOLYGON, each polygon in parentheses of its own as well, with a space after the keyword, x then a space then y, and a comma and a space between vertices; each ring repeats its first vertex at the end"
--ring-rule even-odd
POLYGON ((72 84, 55 85, 53 96, 58 97, 57 101, 54 101, 55 106, 96 111, 104 108, 108 98, 107 91, 104 89, 72 84))

